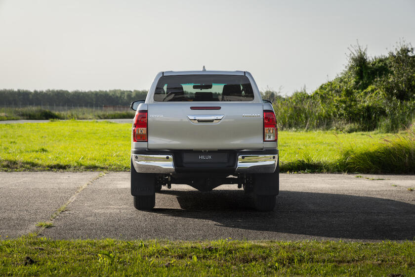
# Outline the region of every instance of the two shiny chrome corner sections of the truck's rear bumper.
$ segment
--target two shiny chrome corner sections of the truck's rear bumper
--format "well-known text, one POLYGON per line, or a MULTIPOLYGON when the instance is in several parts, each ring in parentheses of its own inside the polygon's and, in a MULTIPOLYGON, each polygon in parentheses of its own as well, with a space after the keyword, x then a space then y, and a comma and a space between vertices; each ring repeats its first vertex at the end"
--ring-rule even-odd
MULTIPOLYGON (((278 154, 237 156, 235 173, 273 173, 277 168, 278 154)), ((173 155, 131 154, 132 164, 138 173, 175 173, 173 155)))

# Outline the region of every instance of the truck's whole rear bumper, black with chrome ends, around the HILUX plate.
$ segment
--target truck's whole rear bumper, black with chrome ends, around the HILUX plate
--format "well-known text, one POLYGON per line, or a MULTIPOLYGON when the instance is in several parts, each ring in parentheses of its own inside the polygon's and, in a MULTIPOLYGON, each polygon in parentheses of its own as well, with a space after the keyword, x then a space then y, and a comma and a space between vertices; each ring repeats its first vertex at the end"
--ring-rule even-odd
POLYGON ((138 173, 173 174, 183 172, 221 171, 230 174, 273 173, 278 164, 278 150, 232 151, 227 165, 181 162, 180 151, 131 150, 131 161, 138 173))

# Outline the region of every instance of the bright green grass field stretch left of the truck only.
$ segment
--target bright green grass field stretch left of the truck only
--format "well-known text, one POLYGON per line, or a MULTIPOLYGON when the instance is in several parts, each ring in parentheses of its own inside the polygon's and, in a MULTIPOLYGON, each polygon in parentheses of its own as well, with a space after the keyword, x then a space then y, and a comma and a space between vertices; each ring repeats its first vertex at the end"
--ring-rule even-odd
POLYGON ((2 170, 129 169, 130 124, 55 121, 0 126, 2 170))

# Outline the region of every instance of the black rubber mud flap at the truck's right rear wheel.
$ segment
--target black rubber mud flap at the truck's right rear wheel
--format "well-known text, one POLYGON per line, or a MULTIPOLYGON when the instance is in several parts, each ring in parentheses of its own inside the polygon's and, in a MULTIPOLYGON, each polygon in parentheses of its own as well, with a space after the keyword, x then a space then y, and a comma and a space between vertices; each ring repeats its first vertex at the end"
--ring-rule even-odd
POLYGON ((256 195, 278 195, 280 192, 279 161, 274 173, 254 174, 253 193, 256 195))

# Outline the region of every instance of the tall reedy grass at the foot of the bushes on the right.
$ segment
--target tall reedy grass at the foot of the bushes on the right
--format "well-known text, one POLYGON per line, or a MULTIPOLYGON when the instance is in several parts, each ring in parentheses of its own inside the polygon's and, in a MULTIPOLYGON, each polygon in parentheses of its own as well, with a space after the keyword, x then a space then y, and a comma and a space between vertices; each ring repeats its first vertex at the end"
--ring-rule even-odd
POLYGON ((353 118, 336 114, 334 106, 328 106, 316 95, 304 91, 277 97, 273 105, 280 130, 339 130, 346 133, 377 130, 390 133, 415 123, 415 101, 391 101, 387 115, 376 114, 371 106, 360 107, 361 115, 353 118))

